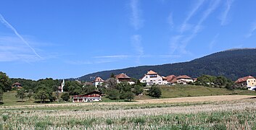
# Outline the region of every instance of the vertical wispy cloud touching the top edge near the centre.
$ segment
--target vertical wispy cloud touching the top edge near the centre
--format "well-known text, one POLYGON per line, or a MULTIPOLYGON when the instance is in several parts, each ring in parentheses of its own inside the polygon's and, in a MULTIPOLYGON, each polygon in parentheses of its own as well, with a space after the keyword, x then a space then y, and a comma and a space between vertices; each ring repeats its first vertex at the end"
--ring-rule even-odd
POLYGON ((141 19, 142 11, 139 8, 139 0, 131 0, 131 25, 135 30, 139 30, 144 25, 144 20, 141 19))

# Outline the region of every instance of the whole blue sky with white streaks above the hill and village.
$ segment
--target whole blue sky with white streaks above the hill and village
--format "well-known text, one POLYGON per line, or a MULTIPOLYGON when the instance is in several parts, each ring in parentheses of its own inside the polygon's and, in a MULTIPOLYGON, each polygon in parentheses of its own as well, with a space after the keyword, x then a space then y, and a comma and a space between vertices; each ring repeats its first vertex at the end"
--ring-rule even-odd
POLYGON ((254 0, 0 1, 0 71, 63 79, 255 48, 254 0))

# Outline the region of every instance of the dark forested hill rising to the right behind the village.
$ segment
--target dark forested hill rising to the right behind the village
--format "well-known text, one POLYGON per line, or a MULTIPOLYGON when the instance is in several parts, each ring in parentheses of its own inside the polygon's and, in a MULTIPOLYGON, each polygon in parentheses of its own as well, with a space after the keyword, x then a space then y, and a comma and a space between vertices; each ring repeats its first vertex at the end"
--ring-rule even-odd
POLYGON ((162 76, 186 74, 190 77, 199 77, 202 74, 209 74, 214 76, 223 75, 229 79, 236 80, 239 77, 248 75, 256 76, 256 49, 244 48, 221 51, 189 62, 176 64, 137 66, 126 69, 99 71, 78 79, 91 81, 94 77, 98 76, 102 77, 102 79, 107 79, 112 73, 126 73, 129 77, 140 79, 150 69, 157 71, 162 76))

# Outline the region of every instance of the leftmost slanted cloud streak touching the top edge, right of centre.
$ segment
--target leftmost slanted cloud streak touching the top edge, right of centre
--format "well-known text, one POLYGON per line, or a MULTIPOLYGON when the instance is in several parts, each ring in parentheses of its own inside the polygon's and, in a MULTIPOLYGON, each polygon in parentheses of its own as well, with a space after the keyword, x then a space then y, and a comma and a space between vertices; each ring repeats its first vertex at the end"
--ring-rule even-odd
POLYGON ((189 15, 186 17, 186 19, 183 21, 183 24, 181 25, 181 29, 180 29, 181 33, 183 33, 184 31, 186 31, 189 28, 189 25, 187 22, 191 19, 191 17, 194 16, 194 14, 196 14, 199 7, 202 6, 202 4, 204 4, 204 1, 205 0, 199 0, 199 1, 197 1, 196 4, 194 4, 191 12, 189 12, 189 15))

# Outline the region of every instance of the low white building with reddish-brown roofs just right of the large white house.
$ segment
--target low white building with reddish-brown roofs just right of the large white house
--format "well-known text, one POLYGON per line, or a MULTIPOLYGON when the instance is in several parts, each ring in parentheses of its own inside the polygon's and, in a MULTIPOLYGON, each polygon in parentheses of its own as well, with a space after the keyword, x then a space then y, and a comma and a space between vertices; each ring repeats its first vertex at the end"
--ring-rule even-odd
POLYGON ((167 78, 170 84, 188 84, 189 82, 194 82, 195 80, 187 75, 180 75, 178 77, 175 75, 169 75, 167 78))

